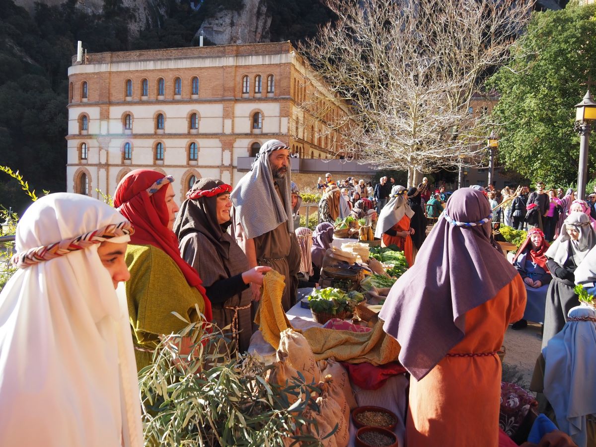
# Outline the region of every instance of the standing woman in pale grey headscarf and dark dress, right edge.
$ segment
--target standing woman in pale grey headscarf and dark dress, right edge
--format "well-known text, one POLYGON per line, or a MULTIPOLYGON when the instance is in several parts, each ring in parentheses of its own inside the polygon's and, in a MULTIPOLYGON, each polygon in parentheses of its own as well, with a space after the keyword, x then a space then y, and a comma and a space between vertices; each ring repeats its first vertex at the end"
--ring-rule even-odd
POLYGON ((547 250, 547 266, 552 275, 544 311, 542 348, 567 322, 567 313, 579 304, 575 287, 575 270, 596 245, 596 233, 585 213, 571 212, 563 225, 564 232, 547 250))

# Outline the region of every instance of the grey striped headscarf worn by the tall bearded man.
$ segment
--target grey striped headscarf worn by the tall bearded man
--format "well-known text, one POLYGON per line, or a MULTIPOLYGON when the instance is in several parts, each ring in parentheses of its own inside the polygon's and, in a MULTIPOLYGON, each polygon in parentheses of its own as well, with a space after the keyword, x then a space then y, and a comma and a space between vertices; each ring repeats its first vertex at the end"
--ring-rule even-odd
POLYGON ((277 139, 270 139, 260 148, 253 166, 232 191, 229 198, 234 204, 234 215, 239 219, 246 237, 254 239, 273 231, 286 222, 288 232, 294 232, 291 200, 291 159, 283 179, 277 180, 281 197, 275 191, 269 154, 289 149, 277 139))

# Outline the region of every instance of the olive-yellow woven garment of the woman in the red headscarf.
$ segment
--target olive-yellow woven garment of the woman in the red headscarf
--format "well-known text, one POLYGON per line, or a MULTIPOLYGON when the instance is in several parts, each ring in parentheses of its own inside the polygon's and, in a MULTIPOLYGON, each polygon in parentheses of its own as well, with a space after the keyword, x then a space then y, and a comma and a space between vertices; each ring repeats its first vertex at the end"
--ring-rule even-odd
POLYGON ((205 311, 205 302, 196 287, 188 285, 181 269, 163 250, 151 245, 128 244, 126 265, 131 279, 126 281, 126 299, 131 319, 132 340, 135 347, 136 368, 151 363, 160 335, 177 333, 188 321, 197 322, 195 309, 205 311))

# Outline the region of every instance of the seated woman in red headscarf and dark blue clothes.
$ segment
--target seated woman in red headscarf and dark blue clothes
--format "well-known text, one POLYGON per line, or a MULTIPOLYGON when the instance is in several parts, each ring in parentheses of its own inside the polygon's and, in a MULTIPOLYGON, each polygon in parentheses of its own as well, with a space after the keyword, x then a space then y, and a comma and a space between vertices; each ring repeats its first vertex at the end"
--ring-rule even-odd
POLYGON ((512 325, 515 330, 526 327, 527 320, 544 323, 548 285, 552 280, 547 266, 548 247, 550 245, 545 240, 544 233, 539 228, 533 228, 513 258, 513 266, 522 277, 527 293, 523 319, 512 325))

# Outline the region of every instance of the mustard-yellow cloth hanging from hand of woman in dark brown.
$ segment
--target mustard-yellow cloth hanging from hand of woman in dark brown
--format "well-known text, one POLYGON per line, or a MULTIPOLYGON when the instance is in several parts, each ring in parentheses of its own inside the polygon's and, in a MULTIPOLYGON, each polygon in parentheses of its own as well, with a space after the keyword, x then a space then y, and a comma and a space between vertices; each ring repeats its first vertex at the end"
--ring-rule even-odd
POLYGON ((268 271, 263 278, 263 296, 260 300, 259 312, 254 317, 254 322, 259 325, 263 339, 274 349, 280 346, 280 334, 292 328, 281 306, 284 288, 284 275, 275 270, 268 271))

